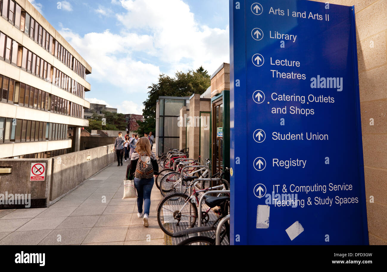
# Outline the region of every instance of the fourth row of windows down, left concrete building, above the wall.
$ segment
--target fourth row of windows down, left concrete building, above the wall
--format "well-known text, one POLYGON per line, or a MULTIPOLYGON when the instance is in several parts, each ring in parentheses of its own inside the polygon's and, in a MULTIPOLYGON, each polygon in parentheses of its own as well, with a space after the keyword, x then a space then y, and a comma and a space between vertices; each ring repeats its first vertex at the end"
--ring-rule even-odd
POLYGON ((0 143, 67 139, 66 124, 0 117, 0 143))

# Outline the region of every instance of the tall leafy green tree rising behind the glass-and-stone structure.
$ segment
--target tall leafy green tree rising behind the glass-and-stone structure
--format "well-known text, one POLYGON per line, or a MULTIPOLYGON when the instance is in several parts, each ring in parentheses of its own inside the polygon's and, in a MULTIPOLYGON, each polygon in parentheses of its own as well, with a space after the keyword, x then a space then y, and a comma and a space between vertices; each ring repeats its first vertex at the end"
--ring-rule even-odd
POLYGON ((211 85, 207 70, 200 66, 196 71, 177 71, 175 77, 164 74, 159 75, 158 83, 148 87, 148 99, 143 102, 145 108, 142 110, 144 122, 137 121, 139 128, 137 133, 156 131, 156 100, 159 96, 191 96, 194 93, 202 94, 211 85))

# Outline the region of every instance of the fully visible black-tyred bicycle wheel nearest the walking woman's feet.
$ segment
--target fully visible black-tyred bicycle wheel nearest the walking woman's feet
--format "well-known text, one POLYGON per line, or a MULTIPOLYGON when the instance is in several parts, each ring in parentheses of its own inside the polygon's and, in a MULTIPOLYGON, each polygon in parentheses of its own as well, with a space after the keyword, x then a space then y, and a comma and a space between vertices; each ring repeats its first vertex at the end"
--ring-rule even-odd
POLYGON ((198 217, 197 207, 187 199, 187 195, 175 193, 163 198, 157 207, 159 226, 169 236, 174 232, 195 226, 198 217))

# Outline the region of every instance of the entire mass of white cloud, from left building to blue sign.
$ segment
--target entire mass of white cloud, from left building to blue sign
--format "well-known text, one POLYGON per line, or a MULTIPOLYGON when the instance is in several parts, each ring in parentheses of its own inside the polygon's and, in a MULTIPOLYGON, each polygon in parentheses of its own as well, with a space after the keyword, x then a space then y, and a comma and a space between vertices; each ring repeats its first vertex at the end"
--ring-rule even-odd
MULTIPOLYGON (((111 86, 106 94, 119 91, 122 102, 111 105, 118 112, 142 114, 139 101, 146 99, 147 87, 156 83, 161 73, 173 76, 176 70, 185 72, 203 65, 212 74, 223 62, 229 62, 228 27, 199 24, 182 0, 111 3, 125 8, 124 13, 116 14, 123 26, 120 33, 106 29, 80 36, 67 28, 59 32, 91 65, 87 79, 93 79, 92 88, 97 82, 111 86)), ((101 6, 98 9, 103 10, 101 6)))

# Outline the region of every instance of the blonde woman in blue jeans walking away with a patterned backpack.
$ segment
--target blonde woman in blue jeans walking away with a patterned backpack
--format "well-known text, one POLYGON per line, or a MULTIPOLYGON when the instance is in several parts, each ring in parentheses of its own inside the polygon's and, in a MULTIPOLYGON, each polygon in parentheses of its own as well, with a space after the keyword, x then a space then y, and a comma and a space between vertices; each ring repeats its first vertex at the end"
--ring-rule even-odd
POLYGON ((149 226, 148 217, 151 208, 151 191, 154 184, 153 175, 158 175, 159 166, 156 155, 151 151, 151 143, 147 137, 140 138, 135 151, 130 157, 126 177, 134 179, 137 189, 137 217, 142 217, 142 202, 144 201, 144 227, 149 226))

